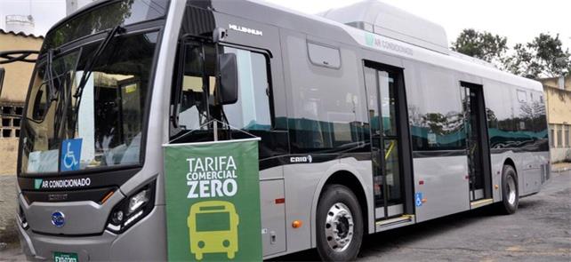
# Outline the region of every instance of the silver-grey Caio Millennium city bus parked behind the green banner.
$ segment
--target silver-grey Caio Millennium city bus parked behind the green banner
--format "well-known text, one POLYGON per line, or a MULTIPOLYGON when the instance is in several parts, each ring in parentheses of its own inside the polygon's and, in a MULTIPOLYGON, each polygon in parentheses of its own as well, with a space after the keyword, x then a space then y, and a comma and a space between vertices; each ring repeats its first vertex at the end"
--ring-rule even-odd
POLYGON ((48 31, 24 111, 30 259, 167 259, 162 146, 213 134, 261 139, 264 259, 352 260, 366 234, 491 205, 511 214, 550 179, 541 83, 375 1, 318 15, 98 1, 48 31))

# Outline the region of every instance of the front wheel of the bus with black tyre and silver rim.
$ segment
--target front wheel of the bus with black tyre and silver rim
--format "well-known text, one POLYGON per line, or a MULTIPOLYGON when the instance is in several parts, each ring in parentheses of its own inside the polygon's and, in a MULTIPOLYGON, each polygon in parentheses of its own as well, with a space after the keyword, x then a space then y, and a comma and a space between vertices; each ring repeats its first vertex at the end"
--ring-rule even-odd
POLYGON ((316 225, 321 259, 348 261, 357 258, 363 241, 363 215, 357 197, 348 187, 326 187, 319 197, 316 225))

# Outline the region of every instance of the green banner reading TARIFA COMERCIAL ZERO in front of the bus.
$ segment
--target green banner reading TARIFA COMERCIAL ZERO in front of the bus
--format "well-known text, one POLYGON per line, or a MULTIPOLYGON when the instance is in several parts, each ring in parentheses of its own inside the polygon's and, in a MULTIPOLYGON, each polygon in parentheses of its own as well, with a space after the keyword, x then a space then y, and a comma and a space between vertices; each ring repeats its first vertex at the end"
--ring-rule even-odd
POLYGON ((258 140, 165 145, 169 260, 261 260, 258 140))

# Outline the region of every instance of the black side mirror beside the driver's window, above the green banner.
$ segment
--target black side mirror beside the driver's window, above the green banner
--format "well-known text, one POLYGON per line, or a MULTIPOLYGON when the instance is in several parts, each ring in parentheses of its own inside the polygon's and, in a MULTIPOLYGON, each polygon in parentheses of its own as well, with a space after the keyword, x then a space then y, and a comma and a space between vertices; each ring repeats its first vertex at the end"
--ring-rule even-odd
POLYGON ((218 57, 220 72, 219 103, 229 105, 237 102, 237 60, 234 53, 223 53, 218 57))

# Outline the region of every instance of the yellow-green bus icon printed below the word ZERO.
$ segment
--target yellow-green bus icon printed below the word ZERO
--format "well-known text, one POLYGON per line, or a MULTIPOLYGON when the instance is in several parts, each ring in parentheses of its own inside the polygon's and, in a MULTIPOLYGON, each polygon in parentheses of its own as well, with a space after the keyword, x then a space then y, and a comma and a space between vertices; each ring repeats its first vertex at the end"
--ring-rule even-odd
POLYGON ((226 253, 233 259, 238 250, 239 218, 234 204, 226 201, 197 202, 190 207, 190 252, 197 260, 205 253, 226 253))

